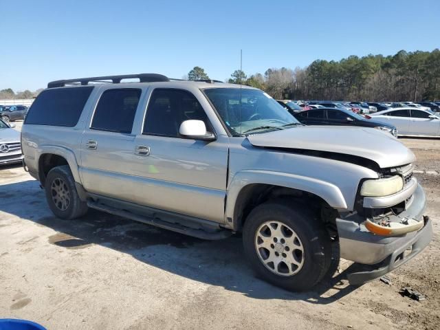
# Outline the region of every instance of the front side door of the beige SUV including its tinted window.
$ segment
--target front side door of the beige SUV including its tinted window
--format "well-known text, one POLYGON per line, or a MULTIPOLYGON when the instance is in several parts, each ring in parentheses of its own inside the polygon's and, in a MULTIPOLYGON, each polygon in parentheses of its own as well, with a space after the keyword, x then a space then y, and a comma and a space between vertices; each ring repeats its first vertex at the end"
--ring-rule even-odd
POLYGON ((213 130, 190 91, 154 89, 149 99, 142 132, 135 138, 139 153, 131 163, 132 174, 144 182, 137 202, 223 222, 228 137, 219 135, 213 142, 180 137, 184 120, 203 120, 213 130))

